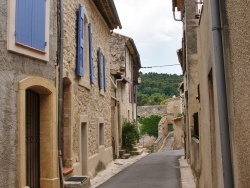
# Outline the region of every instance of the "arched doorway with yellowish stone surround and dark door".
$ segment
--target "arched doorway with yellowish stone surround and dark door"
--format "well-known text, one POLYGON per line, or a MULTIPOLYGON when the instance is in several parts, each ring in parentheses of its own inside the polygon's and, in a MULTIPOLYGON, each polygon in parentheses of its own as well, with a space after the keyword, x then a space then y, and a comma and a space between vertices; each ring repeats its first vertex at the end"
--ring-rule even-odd
POLYGON ((59 187, 56 88, 30 76, 18 88, 18 187, 59 187))

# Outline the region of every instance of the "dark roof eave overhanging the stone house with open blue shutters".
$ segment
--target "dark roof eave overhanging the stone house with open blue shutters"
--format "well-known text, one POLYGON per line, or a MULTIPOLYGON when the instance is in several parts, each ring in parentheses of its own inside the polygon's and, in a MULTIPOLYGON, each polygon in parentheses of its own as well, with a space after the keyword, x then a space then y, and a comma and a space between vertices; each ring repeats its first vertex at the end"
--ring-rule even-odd
POLYGON ((117 27, 122 28, 113 0, 93 0, 93 2, 108 24, 110 30, 114 30, 117 27))

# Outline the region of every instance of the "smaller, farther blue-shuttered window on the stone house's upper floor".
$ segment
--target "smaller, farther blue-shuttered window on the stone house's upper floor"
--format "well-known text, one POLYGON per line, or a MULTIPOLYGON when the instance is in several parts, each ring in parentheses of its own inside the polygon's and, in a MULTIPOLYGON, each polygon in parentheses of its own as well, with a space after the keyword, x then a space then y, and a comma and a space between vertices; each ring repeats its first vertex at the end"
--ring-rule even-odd
POLYGON ((106 91, 107 82, 106 82, 106 58, 103 55, 101 48, 98 49, 98 83, 99 89, 106 91))

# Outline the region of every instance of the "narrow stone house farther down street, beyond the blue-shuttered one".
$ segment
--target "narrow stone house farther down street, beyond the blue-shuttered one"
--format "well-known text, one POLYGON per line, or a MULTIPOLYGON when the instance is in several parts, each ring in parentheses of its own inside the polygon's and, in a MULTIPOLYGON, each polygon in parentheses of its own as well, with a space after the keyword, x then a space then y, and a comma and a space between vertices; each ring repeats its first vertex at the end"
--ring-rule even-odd
POLYGON ((112 33, 109 44, 112 138, 115 157, 119 157, 122 125, 124 122, 137 121, 136 92, 141 62, 132 38, 112 33))

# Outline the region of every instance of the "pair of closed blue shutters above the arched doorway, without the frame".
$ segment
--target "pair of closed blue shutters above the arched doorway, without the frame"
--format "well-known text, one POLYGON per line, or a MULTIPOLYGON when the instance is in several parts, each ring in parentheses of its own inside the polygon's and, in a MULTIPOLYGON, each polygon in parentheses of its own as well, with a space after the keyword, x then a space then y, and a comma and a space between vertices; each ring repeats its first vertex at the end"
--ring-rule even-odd
POLYGON ((16 0, 16 43, 45 50, 46 0, 16 0))

